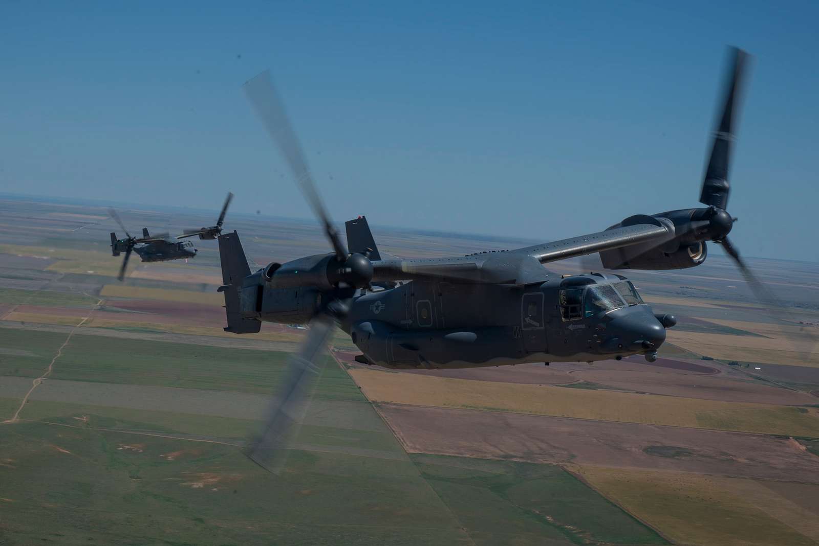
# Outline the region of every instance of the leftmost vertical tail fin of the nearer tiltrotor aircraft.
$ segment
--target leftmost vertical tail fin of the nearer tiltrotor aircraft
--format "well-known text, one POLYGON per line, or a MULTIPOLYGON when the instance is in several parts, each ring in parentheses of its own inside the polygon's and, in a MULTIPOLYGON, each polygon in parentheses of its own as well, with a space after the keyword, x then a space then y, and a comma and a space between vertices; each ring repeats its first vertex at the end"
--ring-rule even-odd
POLYGON ((219 235, 219 261, 222 263, 222 286, 219 287, 219 292, 224 293, 224 310, 228 318, 228 326, 224 331, 258 332, 261 322, 242 316, 239 291, 242 290, 242 281, 251 274, 251 268, 247 265, 247 257, 236 231, 219 235))

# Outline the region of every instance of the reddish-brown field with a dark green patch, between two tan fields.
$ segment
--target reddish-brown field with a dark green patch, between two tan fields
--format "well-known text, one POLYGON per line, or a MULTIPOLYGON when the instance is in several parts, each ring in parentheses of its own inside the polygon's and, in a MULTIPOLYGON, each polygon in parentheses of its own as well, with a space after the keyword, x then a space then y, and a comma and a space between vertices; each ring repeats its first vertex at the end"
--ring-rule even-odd
POLYGON ((819 484, 819 457, 773 436, 410 405, 378 412, 413 453, 819 484))

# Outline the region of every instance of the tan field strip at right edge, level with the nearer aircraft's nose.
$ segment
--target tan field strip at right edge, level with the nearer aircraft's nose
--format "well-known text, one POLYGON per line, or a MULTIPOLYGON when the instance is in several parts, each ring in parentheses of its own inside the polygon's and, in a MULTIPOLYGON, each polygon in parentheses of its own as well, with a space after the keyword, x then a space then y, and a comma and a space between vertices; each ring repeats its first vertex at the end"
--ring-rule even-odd
MULTIPOLYGON (((669 329, 667 339, 678 347, 720 360, 819 366, 819 355, 808 352, 808 343, 793 339, 756 338, 724 333, 683 332, 669 329)), ((817 349, 813 349, 817 350, 817 349)))

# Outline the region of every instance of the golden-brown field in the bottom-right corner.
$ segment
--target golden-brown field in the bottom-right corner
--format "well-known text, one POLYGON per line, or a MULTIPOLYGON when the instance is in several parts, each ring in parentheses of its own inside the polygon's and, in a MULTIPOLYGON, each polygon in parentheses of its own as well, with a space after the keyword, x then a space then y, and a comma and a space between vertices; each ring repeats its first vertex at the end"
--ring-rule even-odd
MULTIPOLYGON (((581 477, 680 544, 817 544, 819 518, 762 483, 683 472, 578 466, 581 477)), ((817 486, 812 494, 819 494, 817 486)))

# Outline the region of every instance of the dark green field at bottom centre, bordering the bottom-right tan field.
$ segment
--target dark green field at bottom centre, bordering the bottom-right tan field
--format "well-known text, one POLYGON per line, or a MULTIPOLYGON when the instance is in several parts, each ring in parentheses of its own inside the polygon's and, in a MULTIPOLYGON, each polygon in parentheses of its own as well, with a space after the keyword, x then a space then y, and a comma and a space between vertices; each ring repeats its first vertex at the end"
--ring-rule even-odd
POLYGON ((474 544, 668 544, 558 466, 428 454, 412 458, 474 544))

